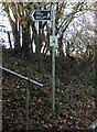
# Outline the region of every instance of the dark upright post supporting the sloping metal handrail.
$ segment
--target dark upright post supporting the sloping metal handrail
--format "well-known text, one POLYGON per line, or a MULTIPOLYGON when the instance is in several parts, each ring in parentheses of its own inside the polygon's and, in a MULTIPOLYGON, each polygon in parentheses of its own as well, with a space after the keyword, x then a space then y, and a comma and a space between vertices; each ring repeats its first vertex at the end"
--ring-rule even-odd
POLYGON ((25 88, 25 130, 29 130, 29 89, 30 81, 28 80, 28 86, 25 88))

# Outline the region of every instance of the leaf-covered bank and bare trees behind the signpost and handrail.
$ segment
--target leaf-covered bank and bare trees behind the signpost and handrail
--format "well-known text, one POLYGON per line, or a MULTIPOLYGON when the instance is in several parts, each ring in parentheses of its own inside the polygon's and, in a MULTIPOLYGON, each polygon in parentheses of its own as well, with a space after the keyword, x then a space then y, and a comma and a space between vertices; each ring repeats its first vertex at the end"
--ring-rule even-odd
MULTIPOLYGON (((41 81, 31 86, 30 129, 60 131, 87 129, 97 118, 97 2, 3 2, 12 31, 4 40, 2 65, 41 81), (56 111, 52 111, 52 35, 51 22, 34 22, 32 10, 51 10, 55 6, 56 111), (12 37, 11 37, 12 35, 12 37)), ((0 30, 1 31, 1 30, 0 30)), ((3 129, 24 129, 25 81, 3 74, 3 129)))

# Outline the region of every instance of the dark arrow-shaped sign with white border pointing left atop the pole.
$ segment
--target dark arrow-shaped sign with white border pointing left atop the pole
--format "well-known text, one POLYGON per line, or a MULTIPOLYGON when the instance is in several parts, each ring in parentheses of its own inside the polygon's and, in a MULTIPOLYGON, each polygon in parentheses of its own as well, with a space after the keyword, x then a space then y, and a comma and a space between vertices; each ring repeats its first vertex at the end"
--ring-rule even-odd
POLYGON ((34 10, 30 16, 32 21, 52 21, 52 10, 34 10))

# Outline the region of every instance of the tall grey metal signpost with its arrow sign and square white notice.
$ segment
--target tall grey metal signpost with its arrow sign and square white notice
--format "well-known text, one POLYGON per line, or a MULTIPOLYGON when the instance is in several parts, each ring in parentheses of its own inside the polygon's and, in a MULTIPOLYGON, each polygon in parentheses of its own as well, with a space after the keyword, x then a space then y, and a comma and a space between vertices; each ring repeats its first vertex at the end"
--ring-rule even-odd
POLYGON ((52 103, 55 110, 55 47, 57 47, 57 36, 55 36, 55 10, 34 10, 30 14, 32 21, 52 21, 53 35, 50 36, 52 46, 52 103))

